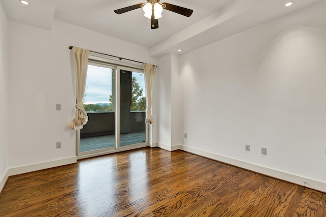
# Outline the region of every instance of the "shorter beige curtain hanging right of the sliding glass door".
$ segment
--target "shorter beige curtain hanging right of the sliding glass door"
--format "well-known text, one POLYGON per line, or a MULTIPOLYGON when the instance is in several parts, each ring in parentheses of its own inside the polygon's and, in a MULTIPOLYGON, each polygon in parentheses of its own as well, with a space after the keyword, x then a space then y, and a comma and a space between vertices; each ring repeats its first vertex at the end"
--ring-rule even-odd
POLYGON ((154 122, 152 116, 152 100, 154 96, 154 85, 155 85, 155 71, 156 66, 151 64, 144 64, 144 73, 145 73, 145 91, 146 91, 146 123, 150 125, 154 122))

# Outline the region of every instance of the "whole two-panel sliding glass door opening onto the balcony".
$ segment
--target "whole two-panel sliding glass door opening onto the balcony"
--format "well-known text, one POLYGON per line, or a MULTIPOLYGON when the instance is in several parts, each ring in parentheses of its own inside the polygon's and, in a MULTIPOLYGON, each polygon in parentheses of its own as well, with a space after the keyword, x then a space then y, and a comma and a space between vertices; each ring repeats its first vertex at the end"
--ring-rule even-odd
POLYGON ((88 122, 77 133, 77 156, 147 146, 141 69, 90 63, 83 105, 88 122))

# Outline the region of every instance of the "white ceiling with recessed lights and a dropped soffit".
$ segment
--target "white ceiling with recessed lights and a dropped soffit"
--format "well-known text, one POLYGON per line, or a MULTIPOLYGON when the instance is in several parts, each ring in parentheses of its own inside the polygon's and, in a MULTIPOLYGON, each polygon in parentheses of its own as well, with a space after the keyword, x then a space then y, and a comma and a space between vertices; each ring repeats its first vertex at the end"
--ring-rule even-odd
POLYGON ((114 10, 145 0, 0 0, 7 18, 51 30, 53 19, 149 48, 150 55, 182 54, 322 0, 162 0, 193 9, 191 17, 168 10, 151 29, 142 9, 114 10), (177 49, 182 49, 177 52, 177 49))

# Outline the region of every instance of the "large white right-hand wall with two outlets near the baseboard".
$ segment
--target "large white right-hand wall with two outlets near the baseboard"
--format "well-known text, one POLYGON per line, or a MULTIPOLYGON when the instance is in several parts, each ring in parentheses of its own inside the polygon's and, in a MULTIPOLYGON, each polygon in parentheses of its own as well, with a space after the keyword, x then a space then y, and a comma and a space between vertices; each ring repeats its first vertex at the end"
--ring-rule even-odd
POLYGON ((326 183, 325 8, 182 55, 184 145, 326 183))

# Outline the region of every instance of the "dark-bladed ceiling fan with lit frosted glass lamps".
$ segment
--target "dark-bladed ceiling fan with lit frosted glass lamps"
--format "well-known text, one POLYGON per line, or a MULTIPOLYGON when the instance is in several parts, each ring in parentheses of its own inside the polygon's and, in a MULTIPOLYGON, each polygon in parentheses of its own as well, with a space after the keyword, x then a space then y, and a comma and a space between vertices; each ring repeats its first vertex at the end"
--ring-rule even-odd
POLYGON ((172 11, 177 14, 181 14, 186 17, 190 17, 193 13, 193 10, 191 9, 183 8, 169 3, 160 4, 159 0, 147 0, 146 4, 141 3, 137 5, 132 5, 125 8, 117 9, 114 12, 116 12, 117 14, 122 14, 138 8, 143 8, 145 12, 144 16, 147 17, 148 19, 151 19, 152 29, 158 28, 158 18, 162 17, 161 12, 163 11, 163 9, 172 11))

